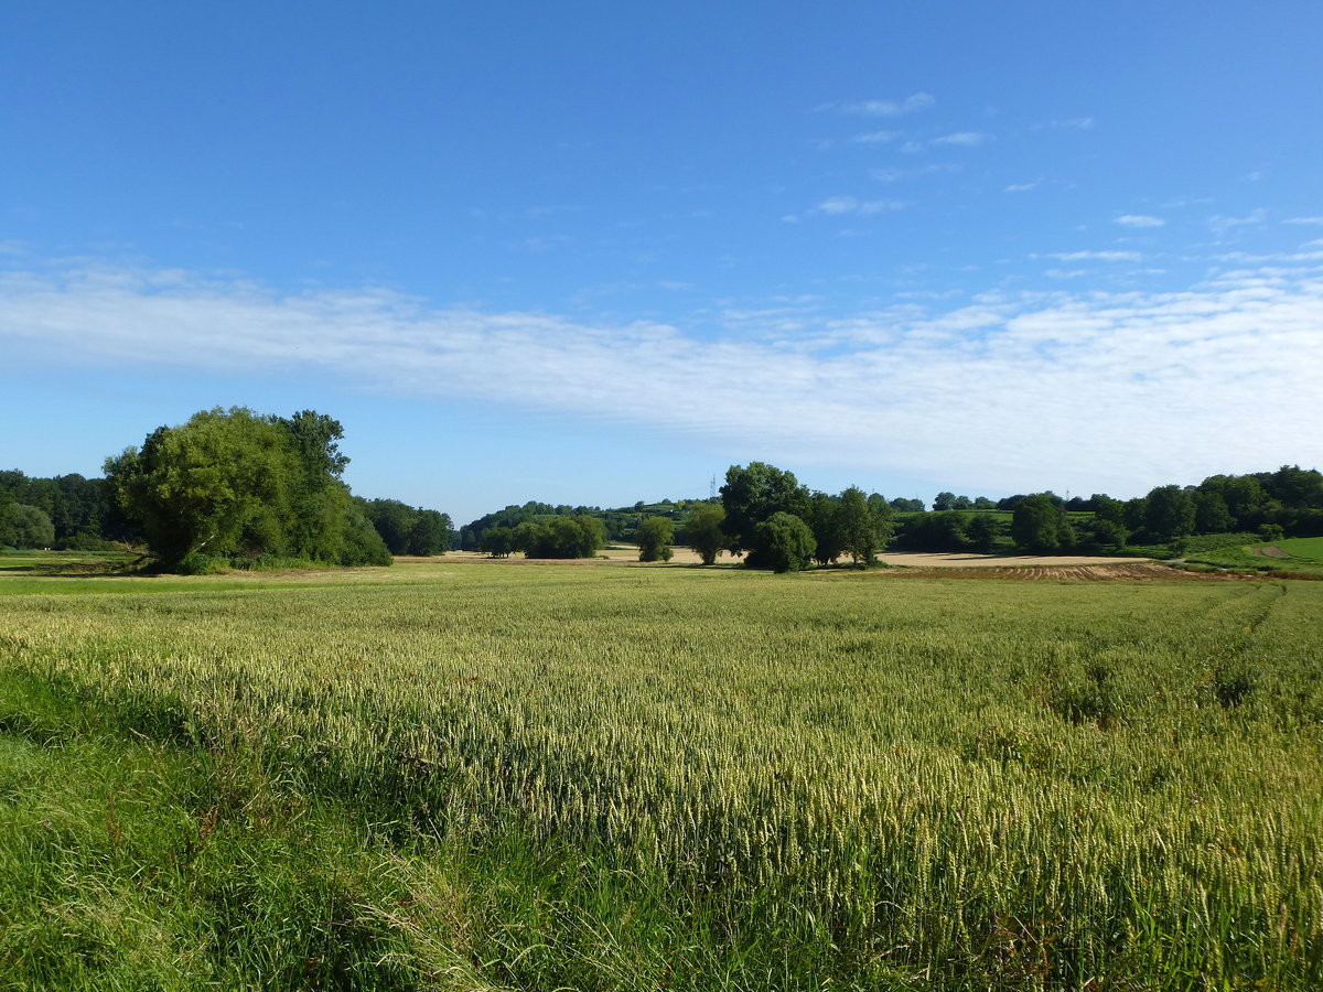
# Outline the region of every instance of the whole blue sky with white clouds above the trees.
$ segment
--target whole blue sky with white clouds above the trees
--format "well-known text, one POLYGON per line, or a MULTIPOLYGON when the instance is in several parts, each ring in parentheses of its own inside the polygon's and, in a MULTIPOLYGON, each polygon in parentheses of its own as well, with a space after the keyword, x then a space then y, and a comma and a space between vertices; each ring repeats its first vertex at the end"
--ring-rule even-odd
POLYGON ((1316 3, 0 11, 0 467, 210 406, 365 496, 1323 464, 1316 3))

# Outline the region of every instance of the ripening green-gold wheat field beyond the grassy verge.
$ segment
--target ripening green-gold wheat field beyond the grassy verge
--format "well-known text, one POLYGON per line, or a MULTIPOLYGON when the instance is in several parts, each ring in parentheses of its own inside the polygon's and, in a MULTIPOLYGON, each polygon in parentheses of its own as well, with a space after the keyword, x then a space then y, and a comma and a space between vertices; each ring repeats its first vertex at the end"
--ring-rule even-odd
MULTIPOLYGON (((15 581, 0 612, 11 676, 370 799, 356 843, 413 872, 517 837, 766 976, 693 987, 807 987, 803 948, 840 988, 1323 984, 1323 583, 441 561, 15 581)), ((576 987, 680 984, 548 926, 475 938, 484 980, 638 940, 576 987)))

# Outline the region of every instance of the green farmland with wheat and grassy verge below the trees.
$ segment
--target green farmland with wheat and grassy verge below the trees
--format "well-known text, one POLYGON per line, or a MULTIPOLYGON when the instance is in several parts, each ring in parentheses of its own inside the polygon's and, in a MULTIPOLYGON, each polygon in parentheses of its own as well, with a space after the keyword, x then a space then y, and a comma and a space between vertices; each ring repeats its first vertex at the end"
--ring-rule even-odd
POLYGON ((0 615, 0 984, 1323 983, 1323 583, 439 561, 0 615))

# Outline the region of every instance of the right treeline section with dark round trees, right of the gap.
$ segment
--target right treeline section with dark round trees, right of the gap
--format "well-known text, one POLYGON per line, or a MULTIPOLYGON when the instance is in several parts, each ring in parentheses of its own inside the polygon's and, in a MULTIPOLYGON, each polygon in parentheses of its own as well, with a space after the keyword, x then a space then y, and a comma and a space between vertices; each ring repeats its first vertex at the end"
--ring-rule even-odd
POLYGON ((884 549, 1023 552, 1039 554, 1180 553, 1192 537, 1248 534, 1277 540, 1323 534, 1323 475, 1283 466, 1275 472, 1209 476, 1199 485, 1160 485, 1144 496, 1062 499, 1053 492, 994 501, 938 493, 933 511, 917 499, 886 500, 849 488, 810 491, 791 472, 762 462, 732 466, 720 500, 663 500, 632 508, 525 503, 475 520, 462 546, 496 557, 586 557, 606 540, 636 542, 643 561, 671 558, 673 541, 706 563, 722 552, 753 567, 795 570, 844 558, 868 565, 884 549), (591 521, 589 524, 587 521, 591 521), (572 540, 573 526, 595 540, 572 540), (552 534, 558 534, 553 540, 552 534))

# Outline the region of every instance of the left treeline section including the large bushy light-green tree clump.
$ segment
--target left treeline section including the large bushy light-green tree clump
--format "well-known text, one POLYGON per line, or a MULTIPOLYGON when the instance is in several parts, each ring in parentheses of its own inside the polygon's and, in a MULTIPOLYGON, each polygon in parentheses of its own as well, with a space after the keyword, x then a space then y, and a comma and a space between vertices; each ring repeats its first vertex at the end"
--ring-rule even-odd
POLYGON ((445 513, 349 492, 343 436, 337 421, 312 410, 284 418, 217 407, 108 458, 103 479, 0 472, 0 545, 146 545, 169 571, 389 565, 393 554, 448 550, 445 513))

